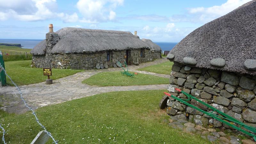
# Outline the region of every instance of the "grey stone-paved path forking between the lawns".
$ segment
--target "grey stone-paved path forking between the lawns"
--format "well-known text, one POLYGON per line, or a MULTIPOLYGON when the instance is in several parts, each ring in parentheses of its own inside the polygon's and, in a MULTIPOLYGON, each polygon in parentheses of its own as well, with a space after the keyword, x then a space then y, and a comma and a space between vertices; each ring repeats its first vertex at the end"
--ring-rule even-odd
MULTIPOLYGON (((169 78, 169 75, 156 74, 146 71, 136 70, 146 66, 158 64, 167 61, 166 59, 155 60, 142 63, 140 66, 128 66, 129 70, 138 73, 150 74, 169 78)), ((32 108, 38 108, 46 105, 57 104, 68 100, 79 99, 94 94, 114 91, 133 91, 133 90, 158 90, 166 89, 166 84, 156 85, 132 85, 132 86, 107 86, 98 87, 82 84, 81 82, 99 72, 120 71, 121 68, 108 68, 100 70, 86 70, 71 76, 63 77, 53 81, 53 84, 46 85, 45 82, 20 86, 23 97, 32 108)), ((0 107, 7 112, 23 113, 27 111, 20 100, 20 95, 15 87, 0 87, 0 107), (3 95, 3 97, 1 97, 3 95)))

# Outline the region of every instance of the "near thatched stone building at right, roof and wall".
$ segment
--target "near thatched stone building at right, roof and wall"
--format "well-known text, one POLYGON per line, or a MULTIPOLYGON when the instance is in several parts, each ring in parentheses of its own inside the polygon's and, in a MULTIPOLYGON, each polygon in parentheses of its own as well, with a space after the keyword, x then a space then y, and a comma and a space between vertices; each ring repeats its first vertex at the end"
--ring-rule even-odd
MULTIPOLYGON (((174 62, 169 92, 185 97, 174 91, 173 87, 179 87, 239 121, 256 127, 255 36, 256 0, 197 28, 167 56, 174 62)), ((191 100, 190 103, 209 111, 196 101, 191 100)), ((186 111, 190 114, 189 120, 196 124, 230 128, 193 108, 174 108, 172 100, 168 101, 168 106, 170 115, 185 117, 183 113, 186 111)))

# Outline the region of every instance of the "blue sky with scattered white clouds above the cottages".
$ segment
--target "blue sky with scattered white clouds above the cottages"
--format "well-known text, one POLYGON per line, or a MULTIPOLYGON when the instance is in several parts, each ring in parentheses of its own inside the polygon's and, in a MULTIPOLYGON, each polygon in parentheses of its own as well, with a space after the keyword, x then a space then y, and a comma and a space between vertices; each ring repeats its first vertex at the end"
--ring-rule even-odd
POLYGON ((250 0, 0 0, 0 39, 44 39, 64 27, 130 31, 179 42, 250 0))

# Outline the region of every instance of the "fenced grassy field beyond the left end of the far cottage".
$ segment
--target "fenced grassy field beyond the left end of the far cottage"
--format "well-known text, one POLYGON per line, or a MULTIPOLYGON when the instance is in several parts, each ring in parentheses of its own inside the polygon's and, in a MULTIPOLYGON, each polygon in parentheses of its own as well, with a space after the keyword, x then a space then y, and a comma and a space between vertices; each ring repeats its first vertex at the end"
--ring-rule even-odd
POLYGON ((3 52, 4 61, 32 60, 32 54, 29 53, 31 49, 23 49, 17 46, 0 45, 0 51, 3 52), (27 57, 25 52, 27 52, 27 57), (6 53, 8 53, 8 55, 6 53))

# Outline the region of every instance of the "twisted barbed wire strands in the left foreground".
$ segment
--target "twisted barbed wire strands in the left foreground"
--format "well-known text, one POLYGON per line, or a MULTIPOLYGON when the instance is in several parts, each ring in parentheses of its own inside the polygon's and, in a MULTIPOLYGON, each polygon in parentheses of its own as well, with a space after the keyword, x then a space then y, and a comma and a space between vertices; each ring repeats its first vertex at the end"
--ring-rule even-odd
MULTIPOLYGON (((26 106, 27 108, 29 108, 29 110, 32 111, 32 115, 35 116, 36 122, 41 126, 41 128, 44 129, 44 132, 46 132, 46 134, 49 135, 49 136, 52 138, 52 140, 53 140, 52 143, 58 144, 58 140, 55 140, 55 139, 52 137, 52 134, 51 134, 50 132, 48 132, 48 131, 46 130, 46 128, 44 127, 44 125, 39 122, 39 119, 38 119, 38 117, 36 116, 36 113, 35 113, 35 111, 33 110, 33 108, 29 107, 28 104, 27 104, 27 102, 26 102, 26 100, 24 100, 24 98, 22 97, 22 92, 21 92, 19 86, 18 86, 17 84, 15 84, 15 83, 12 81, 12 78, 11 78, 9 75, 7 75, 7 73, 6 73, 4 67, 2 66, 1 63, 0 63, 0 67, 3 68, 4 74, 11 80, 12 84, 14 84, 14 86, 18 89, 18 91, 19 91, 19 93, 20 93, 20 99, 23 100, 25 106, 26 106)), ((0 126, 1 126, 1 124, 0 124, 0 126)), ((1 128, 2 128, 3 131, 5 132, 5 130, 4 130, 4 128, 3 128, 2 126, 1 126, 1 128)), ((4 133, 3 133, 3 138, 2 138, 2 140, 4 141, 4 133)), ((4 144, 6 144, 5 141, 4 141, 4 144)))

